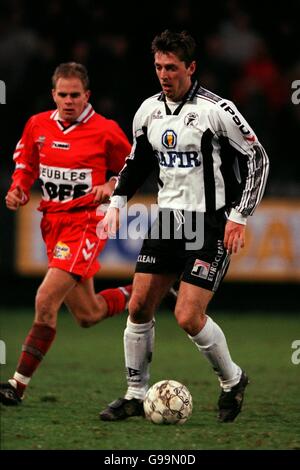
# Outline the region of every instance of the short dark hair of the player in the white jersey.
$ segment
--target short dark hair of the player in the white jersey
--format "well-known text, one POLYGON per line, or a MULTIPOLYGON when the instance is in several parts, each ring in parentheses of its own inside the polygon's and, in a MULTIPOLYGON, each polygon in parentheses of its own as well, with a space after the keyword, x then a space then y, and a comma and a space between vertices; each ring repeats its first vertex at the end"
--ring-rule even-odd
POLYGON ((193 60, 196 60, 196 42, 187 31, 175 33, 166 29, 155 36, 151 50, 153 54, 156 54, 156 52, 172 52, 185 62, 187 67, 193 60))

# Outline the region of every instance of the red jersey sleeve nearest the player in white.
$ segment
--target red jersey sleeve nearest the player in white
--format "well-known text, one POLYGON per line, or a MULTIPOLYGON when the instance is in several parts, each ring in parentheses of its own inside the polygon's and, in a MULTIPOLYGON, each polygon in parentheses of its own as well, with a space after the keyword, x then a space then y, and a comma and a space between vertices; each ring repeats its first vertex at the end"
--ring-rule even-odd
POLYGON ((109 121, 107 130, 107 168, 113 173, 119 173, 125 164, 125 159, 130 154, 131 144, 120 126, 109 121))

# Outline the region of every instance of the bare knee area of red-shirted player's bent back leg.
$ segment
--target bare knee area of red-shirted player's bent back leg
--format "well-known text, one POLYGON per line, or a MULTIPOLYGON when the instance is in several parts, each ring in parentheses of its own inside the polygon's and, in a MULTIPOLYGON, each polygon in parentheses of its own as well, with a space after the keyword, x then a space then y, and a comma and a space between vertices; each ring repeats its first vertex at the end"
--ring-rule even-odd
POLYGON ((68 292, 64 302, 71 313, 78 319, 83 316, 92 316, 94 313, 107 308, 105 300, 95 294, 93 278, 78 282, 68 292))

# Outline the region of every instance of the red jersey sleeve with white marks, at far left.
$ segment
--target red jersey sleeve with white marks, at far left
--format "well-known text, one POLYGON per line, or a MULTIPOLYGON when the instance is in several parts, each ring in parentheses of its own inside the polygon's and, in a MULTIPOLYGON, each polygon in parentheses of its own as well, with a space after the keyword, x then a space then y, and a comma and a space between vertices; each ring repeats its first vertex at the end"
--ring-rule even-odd
POLYGON ((34 140, 34 116, 24 128, 21 140, 17 143, 13 159, 16 163, 9 191, 19 186, 29 198, 29 190, 39 175, 38 143, 34 140))

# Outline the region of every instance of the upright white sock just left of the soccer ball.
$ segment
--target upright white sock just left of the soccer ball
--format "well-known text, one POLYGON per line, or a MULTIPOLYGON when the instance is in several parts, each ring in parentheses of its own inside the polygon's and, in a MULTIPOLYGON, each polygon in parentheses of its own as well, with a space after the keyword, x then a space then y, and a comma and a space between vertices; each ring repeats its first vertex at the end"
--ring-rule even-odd
POLYGON ((132 323, 128 317, 124 331, 125 366, 127 370, 127 400, 144 400, 148 390, 149 369, 154 346, 154 320, 132 323))

